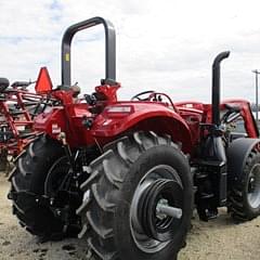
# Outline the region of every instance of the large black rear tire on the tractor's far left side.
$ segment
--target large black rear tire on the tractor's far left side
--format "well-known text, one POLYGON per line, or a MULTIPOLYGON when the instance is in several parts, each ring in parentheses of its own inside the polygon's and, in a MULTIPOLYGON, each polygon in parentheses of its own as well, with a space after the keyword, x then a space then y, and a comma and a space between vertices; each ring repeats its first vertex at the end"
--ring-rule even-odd
MULTIPOLYGON (((13 200, 13 213, 28 232, 44 239, 60 239, 68 231, 67 223, 51 210, 49 200, 44 202, 42 196, 50 170, 62 157, 65 158, 62 145, 41 135, 20 156, 11 178, 9 198, 13 200)), ((69 168, 66 162, 62 167, 60 176, 69 168)))

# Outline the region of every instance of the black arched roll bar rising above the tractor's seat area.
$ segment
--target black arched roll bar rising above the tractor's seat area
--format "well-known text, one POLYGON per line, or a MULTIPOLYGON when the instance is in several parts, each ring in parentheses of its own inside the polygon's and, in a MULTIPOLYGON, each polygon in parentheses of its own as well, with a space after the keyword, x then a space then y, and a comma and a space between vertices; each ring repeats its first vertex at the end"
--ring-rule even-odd
POLYGON ((93 17, 69 26, 62 40, 62 88, 72 84, 70 44, 76 32, 103 24, 105 29, 105 80, 104 83, 113 84, 116 81, 116 34, 114 25, 102 17, 93 17))

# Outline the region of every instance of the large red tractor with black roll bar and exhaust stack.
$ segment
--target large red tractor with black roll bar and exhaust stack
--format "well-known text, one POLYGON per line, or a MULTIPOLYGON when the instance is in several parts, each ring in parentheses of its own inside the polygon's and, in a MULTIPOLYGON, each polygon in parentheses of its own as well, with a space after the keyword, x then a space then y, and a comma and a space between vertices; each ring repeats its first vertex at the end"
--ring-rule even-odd
MULTIPOLYGON (((115 30, 94 17, 62 41, 58 106, 40 114, 43 132, 16 158, 9 198, 21 224, 42 239, 87 236, 96 259, 173 259, 196 207, 202 220, 219 207, 243 221, 260 213, 260 140, 249 103, 220 103, 220 53, 212 66, 212 104, 174 104, 160 92, 118 101, 115 30), (70 43, 104 26, 106 75, 83 102, 70 90, 70 43), (245 132, 236 132, 237 120, 245 132)), ((51 82, 38 80, 39 89, 51 82)))

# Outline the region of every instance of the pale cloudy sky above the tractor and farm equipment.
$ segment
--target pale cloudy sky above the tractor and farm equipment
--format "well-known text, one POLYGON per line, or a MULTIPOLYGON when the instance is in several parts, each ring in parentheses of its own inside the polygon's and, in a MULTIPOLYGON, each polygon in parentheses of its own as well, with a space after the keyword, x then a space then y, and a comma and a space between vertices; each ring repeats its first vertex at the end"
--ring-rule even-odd
MULTIPOLYGON (((155 90, 174 101, 210 102, 211 64, 222 51, 221 96, 256 99, 260 69, 258 0, 0 0, 0 77, 37 79, 47 66, 61 84, 61 41, 72 24, 102 16, 117 36, 118 95, 155 90)), ((73 82, 92 93, 104 78, 103 28, 73 41, 73 82)), ((259 91, 260 92, 260 91, 259 91)))

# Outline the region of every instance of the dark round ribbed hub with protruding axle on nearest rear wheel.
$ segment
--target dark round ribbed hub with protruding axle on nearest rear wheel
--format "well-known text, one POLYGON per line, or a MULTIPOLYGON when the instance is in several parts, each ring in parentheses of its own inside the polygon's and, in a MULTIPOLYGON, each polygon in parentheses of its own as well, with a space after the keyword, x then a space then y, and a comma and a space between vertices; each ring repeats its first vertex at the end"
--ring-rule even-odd
POLYGON ((153 181, 140 194, 138 219, 148 237, 166 242, 182 217, 182 187, 173 180, 153 181))

